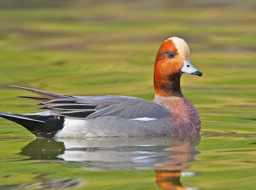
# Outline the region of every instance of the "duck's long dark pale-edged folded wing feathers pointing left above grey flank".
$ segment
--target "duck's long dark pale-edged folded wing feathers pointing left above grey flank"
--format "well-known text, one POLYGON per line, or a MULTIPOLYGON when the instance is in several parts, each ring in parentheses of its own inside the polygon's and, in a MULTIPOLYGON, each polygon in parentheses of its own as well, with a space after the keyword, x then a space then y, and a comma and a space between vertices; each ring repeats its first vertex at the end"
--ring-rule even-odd
POLYGON ((44 98, 19 96, 20 98, 33 99, 39 102, 38 110, 59 110, 56 115, 71 118, 87 118, 90 114, 104 109, 110 105, 121 104, 128 99, 135 99, 129 96, 71 96, 54 94, 33 88, 11 86, 33 92, 44 98))

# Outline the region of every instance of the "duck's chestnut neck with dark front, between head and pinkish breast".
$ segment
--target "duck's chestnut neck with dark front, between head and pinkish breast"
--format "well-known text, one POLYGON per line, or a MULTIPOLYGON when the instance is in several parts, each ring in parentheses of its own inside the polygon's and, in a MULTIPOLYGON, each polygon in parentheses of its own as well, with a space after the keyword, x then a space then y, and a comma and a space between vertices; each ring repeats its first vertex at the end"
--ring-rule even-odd
POLYGON ((154 72, 155 94, 162 97, 181 97, 183 94, 180 88, 181 75, 165 76, 154 72))

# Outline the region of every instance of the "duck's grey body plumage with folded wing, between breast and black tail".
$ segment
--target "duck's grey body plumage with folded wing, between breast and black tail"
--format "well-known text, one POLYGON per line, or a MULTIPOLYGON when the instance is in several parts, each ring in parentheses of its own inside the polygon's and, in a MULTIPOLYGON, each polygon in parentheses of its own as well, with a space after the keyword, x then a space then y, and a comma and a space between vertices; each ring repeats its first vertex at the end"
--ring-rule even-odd
POLYGON ((154 101, 130 96, 69 96, 18 88, 49 99, 40 103, 44 105, 41 109, 49 109, 48 111, 20 114, 22 117, 36 115, 40 119, 40 115, 42 118, 51 115, 55 119, 65 118, 64 125, 53 132, 55 137, 170 136, 177 133, 168 115, 169 108, 154 101))

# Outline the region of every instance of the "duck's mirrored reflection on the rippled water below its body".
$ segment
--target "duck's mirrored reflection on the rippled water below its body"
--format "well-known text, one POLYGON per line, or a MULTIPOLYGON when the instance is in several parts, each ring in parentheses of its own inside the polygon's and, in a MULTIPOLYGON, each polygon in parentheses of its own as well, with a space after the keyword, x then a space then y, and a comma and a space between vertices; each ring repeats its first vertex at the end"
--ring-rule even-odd
POLYGON ((200 137, 98 137, 83 140, 39 138, 22 148, 21 155, 33 160, 86 162, 86 170, 154 169, 163 189, 186 189, 180 178, 199 153, 200 137))

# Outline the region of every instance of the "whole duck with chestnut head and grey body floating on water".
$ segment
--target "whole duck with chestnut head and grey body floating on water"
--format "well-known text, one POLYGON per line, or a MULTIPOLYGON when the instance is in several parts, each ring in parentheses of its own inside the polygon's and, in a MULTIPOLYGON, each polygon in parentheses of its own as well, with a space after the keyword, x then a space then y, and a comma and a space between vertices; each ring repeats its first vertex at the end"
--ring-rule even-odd
POLYGON ((22 125, 37 137, 86 138, 122 136, 191 136, 199 134, 201 121, 193 104, 181 92, 183 73, 202 76, 190 61, 188 44, 170 37, 159 47, 154 64, 153 100, 132 96, 74 96, 10 86, 41 97, 41 112, 0 117, 22 125))

